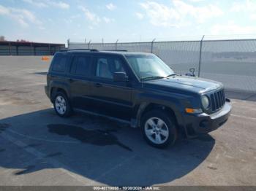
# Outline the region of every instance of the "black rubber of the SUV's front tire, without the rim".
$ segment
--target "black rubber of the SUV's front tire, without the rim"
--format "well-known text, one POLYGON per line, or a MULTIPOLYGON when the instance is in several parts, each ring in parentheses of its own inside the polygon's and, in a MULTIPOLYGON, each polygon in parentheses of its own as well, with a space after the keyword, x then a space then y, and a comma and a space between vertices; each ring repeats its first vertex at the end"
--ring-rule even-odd
POLYGON ((175 144, 176 139, 177 139, 176 123, 175 123, 173 116, 171 114, 167 115, 166 112, 162 111, 162 110, 153 110, 150 112, 146 112, 146 114, 144 114, 142 117, 142 120, 140 123, 140 129, 143 133, 144 139, 146 139, 148 144, 150 144, 153 147, 165 148, 168 146, 172 146, 173 144, 175 144), (162 144, 155 144, 150 139, 148 139, 148 137, 146 136, 145 123, 151 117, 157 117, 157 118, 163 120, 165 122, 165 124, 167 125, 167 128, 169 130, 169 136, 168 136, 167 140, 162 144))

